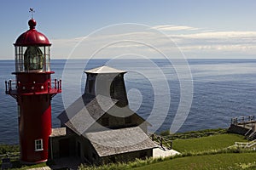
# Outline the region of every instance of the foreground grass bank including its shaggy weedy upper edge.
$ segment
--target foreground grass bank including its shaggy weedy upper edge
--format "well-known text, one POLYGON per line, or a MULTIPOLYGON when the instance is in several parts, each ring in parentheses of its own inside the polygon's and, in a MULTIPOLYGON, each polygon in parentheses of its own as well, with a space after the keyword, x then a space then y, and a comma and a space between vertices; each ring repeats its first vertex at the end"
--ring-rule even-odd
MULTIPOLYGON (((234 151, 234 150, 233 150, 234 151)), ((179 155, 166 158, 131 161, 103 165, 101 167, 83 167, 84 170, 150 170, 150 169, 256 169, 256 152, 240 150, 239 153, 214 153, 208 155, 179 155)))

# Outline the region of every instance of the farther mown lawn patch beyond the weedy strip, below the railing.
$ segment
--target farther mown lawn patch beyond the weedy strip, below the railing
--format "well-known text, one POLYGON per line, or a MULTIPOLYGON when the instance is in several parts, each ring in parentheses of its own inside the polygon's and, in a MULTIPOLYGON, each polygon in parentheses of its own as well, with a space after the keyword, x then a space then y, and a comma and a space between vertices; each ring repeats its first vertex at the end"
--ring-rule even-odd
POLYGON ((225 133, 198 139, 176 139, 173 140, 172 145, 174 150, 183 153, 185 151, 223 149, 235 144, 235 142, 247 142, 247 140, 241 135, 225 133))

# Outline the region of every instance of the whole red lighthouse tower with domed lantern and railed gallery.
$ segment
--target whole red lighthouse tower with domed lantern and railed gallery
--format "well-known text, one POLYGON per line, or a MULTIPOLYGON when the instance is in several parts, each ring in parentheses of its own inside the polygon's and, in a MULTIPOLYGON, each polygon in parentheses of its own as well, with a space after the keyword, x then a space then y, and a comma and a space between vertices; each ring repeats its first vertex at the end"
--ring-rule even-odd
MULTIPOLYGON (((33 11, 32 11, 33 12, 33 11)), ((47 161, 51 133, 51 99, 61 93, 61 81, 51 81, 50 42, 36 31, 36 20, 15 42, 16 80, 6 83, 6 94, 17 100, 20 133, 20 161, 47 161)))

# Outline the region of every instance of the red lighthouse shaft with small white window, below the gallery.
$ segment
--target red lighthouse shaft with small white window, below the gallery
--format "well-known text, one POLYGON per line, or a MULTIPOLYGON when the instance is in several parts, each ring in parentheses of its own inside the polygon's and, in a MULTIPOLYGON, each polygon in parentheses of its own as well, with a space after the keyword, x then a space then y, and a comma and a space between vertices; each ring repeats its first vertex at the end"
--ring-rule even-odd
POLYGON ((34 164, 48 159, 51 133, 49 94, 21 96, 20 102, 20 161, 34 164))

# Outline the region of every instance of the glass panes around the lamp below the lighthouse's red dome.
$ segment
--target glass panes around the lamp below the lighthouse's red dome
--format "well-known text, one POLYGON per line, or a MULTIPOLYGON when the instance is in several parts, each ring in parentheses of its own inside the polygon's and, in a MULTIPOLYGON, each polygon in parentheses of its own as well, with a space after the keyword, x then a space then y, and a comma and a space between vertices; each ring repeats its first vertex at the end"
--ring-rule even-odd
POLYGON ((15 46, 15 72, 50 71, 49 46, 15 46))

